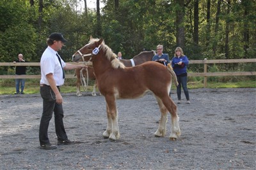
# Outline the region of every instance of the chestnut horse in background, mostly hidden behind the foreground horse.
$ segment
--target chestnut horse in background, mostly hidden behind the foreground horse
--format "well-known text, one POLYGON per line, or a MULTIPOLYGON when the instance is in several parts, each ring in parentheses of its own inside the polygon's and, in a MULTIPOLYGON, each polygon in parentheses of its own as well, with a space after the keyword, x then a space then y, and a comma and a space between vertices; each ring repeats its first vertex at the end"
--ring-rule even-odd
MULTIPOLYGON (((152 50, 152 51, 145 51, 145 52, 141 52, 138 55, 134 56, 132 59, 130 60, 126 60, 126 59, 121 59, 120 61, 122 63, 124 63, 125 67, 132 67, 132 66, 137 66, 139 64, 142 64, 143 62, 147 62, 149 60, 151 60, 154 55, 156 55, 156 51, 152 50)), ((86 77, 87 73, 86 73, 86 69, 83 69, 83 75, 86 77)), ((81 90, 80 90, 80 86, 81 86, 81 74, 80 74, 80 69, 76 69, 76 76, 77 76, 77 80, 76 80, 76 95, 77 96, 82 96, 81 90)), ((90 80, 95 80, 95 75, 93 73, 93 67, 88 67, 88 78, 90 80)), ((95 80, 95 83, 93 85, 93 91, 92 91, 92 96, 96 96, 96 87, 97 87, 97 81, 95 80)))

